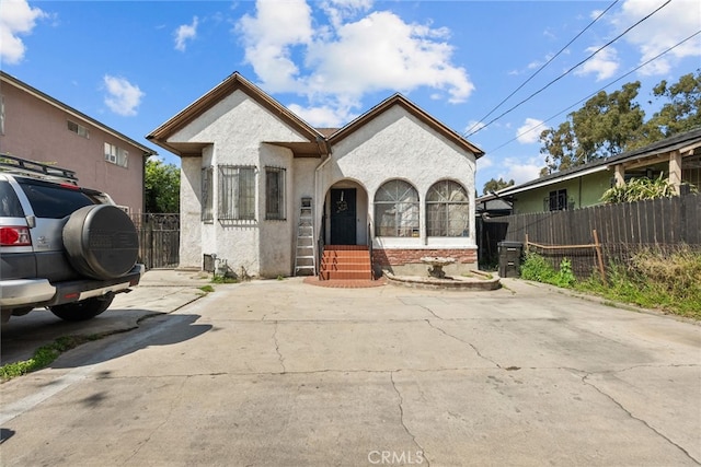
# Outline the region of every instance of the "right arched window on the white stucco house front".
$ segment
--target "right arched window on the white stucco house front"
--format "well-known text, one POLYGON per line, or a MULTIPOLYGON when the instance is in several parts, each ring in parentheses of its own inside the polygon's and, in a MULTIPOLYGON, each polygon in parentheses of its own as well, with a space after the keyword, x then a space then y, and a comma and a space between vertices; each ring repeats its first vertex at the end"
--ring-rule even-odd
POLYGON ((427 236, 469 236, 470 197, 457 182, 440 180, 426 196, 427 236))

